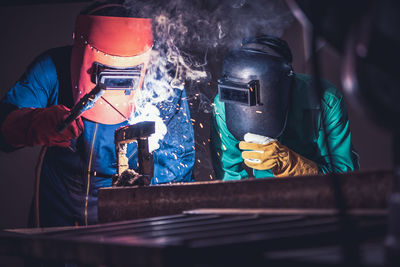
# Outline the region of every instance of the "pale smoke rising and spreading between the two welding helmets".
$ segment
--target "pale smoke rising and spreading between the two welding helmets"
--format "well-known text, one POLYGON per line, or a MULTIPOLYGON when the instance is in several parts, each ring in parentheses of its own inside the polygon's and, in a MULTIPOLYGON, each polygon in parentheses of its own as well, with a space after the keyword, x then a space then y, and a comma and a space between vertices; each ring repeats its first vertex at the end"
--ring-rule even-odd
MULTIPOLYGON (((172 101, 174 89, 185 89, 192 110, 211 112, 226 51, 239 47, 245 37, 282 36, 293 21, 281 0, 125 0, 124 4, 134 16, 153 19, 155 45, 131 120, 156 121, 153 148, 166 134, 165 125, 157 127, 157 122, 162 123, 157 104, 172 101)), ((203 139, 196 135, 196 144, 206 146, 203 139)))

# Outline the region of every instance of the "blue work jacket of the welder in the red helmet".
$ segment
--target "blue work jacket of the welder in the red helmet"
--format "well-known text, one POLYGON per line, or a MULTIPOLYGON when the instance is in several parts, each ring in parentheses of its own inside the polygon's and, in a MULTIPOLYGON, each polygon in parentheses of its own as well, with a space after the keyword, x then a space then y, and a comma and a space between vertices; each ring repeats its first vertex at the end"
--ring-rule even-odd
MULTIPOLYGON (((27 69, 0 104, 0 123, 12 110, 74 104, 70 76, 71 47, 47 51, 27 69)), ((194 135, 185 90, 157 105, 167 133, 153 152, 152 184, 192 181, 194 135), (177 108, 179 107, 179 108, 177 108)), ((84 130, 70 148, 49 147, 40 175, 41 226, 84 225, 97 222, 98 189, 111 186, 116 173, 114 132, 127 125, 82 119, 84 130)), ((0 135, 1 139, 1 135, 0 135)), ((0 140, 2 150, 10 150, 0 140)), ((137 170, 136 143, 127 147, 129 167, 137 170)))

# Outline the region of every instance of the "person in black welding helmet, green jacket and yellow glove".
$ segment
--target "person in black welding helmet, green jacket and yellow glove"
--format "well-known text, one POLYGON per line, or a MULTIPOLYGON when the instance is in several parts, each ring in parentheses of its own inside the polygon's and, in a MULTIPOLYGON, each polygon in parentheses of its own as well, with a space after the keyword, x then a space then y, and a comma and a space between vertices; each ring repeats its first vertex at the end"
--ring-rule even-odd
POLYGON ((316 175, 359 168, 343 96, 295 73, 288 44, 246 38, 225 57, 214 99, 211 150, 218 179, 316 175))

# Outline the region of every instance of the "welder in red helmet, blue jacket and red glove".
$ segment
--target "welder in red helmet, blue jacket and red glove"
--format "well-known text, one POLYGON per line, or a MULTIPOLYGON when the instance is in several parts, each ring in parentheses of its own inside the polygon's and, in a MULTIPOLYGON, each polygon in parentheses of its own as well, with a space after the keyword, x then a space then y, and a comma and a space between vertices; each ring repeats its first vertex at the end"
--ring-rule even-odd
MULTIPOLYGON (((135 94, 145 90, 154 44, 152 19, 119 2, 96 2, 83 10, 73 45, 36 58, 1 101, 2 150, 47 148, 40 174, 41 227, 97 222, 98 189, 111 186, 116 173, 114 133, 128 124, 135 113, 135 94), (83 97, 93 105, 63 124, 83 97)), ((192 180, 189 108, 185 90, 172 90, 169 108, 156 104, 167 133, 153 152, 152 184, 192 180)), ((137 169, 135 142, 128 145, 127 155, 129 167, 137 169)))

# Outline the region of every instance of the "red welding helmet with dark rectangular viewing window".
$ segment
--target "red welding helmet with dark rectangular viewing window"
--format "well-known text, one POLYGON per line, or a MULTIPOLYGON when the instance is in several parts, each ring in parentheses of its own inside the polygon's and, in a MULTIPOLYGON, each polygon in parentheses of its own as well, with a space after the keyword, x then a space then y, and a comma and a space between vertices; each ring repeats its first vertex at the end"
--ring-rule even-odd
POLYGON ((71 57, 74 102, 101 82, 106 92, 82 116, 117 124, 131 115, 135 90, 141 88, 153 46, 148 18, 79 15, 71 57))

